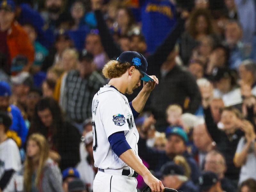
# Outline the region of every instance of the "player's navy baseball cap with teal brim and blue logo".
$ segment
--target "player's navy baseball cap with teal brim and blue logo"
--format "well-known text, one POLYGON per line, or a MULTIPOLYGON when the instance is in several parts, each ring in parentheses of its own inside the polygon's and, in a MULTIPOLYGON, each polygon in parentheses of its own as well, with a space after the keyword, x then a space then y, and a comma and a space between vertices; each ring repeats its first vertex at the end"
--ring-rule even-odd
POLYGON ((144 76, 141 78, 142 81, 154 81, 150 76, 148 76, 147 72, 147 67, 148 67, 148 62, 145 59, 143 55, 141 55, 138 52, 135 51, 125 51, 122 52, 119 57, 117 57, 118 61, 125 63, 128 62, 131 65, 133 65, 136 69, 140 71, 144 76))

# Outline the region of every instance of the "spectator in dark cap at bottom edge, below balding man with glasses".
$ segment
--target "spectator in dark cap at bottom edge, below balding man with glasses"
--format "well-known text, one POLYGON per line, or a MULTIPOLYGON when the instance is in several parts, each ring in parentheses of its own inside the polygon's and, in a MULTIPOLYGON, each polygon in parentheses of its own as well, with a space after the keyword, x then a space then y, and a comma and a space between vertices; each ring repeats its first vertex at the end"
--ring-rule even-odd
POLYGON ((199 177, 200 192, 224 192, 220 186, 220 181, 217 175, 213 172, 204 172, 199 177))

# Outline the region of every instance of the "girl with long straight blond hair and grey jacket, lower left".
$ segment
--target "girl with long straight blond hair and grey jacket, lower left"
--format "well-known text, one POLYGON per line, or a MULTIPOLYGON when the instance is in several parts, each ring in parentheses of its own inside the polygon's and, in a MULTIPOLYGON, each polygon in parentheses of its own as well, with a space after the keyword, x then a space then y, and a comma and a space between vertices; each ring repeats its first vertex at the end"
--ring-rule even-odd
POLYGON ((24 192, 61 192, 61 180, 59 167, 49 158, 49 146, 44 136, 30 135, 24 162, 24 192))

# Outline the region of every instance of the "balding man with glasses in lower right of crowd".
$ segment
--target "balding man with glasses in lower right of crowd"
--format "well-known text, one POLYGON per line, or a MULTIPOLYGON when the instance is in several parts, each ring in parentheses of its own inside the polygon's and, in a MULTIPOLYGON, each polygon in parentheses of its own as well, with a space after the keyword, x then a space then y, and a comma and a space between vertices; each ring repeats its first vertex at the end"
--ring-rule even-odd
POLYGON ((234 192, 236 188, 231 180, 225 177, 227 165, 225 157, 218 151, 212 150, 205 156, 204 171, 214 172, 220 181, 221 188, 226 192, 234 192))

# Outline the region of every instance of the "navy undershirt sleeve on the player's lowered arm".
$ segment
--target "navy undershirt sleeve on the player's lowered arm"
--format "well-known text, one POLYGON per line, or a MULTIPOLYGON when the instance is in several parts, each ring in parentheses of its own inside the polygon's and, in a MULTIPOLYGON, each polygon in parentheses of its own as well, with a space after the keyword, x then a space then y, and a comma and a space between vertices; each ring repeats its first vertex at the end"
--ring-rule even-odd
POLYGON ((125 151, 131 149, 131 146, 125 139, 124 131, 113 133, 108 137, 108 141, 112 150, 118 157, 122 155, 125 151))

